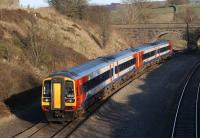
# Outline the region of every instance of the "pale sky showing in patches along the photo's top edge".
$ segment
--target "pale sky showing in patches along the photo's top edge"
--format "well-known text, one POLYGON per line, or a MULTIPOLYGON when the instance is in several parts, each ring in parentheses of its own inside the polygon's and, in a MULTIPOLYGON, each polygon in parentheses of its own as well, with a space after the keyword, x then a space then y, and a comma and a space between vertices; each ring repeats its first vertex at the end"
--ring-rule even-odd
MULTIPOLYGON (((46 2, 47 0, 20 0, 20 3, 22 6, 27 7, 28 5, 30 7, 38 8, 38 7, 47 7, 48 4, 46 2)), ((163 1, 163 0, 160 0, 163 1)), ((110 4, 110 3, 118 3, 121 2, 121 0, 90 0, 90 3, 92 4, 110 4)))

